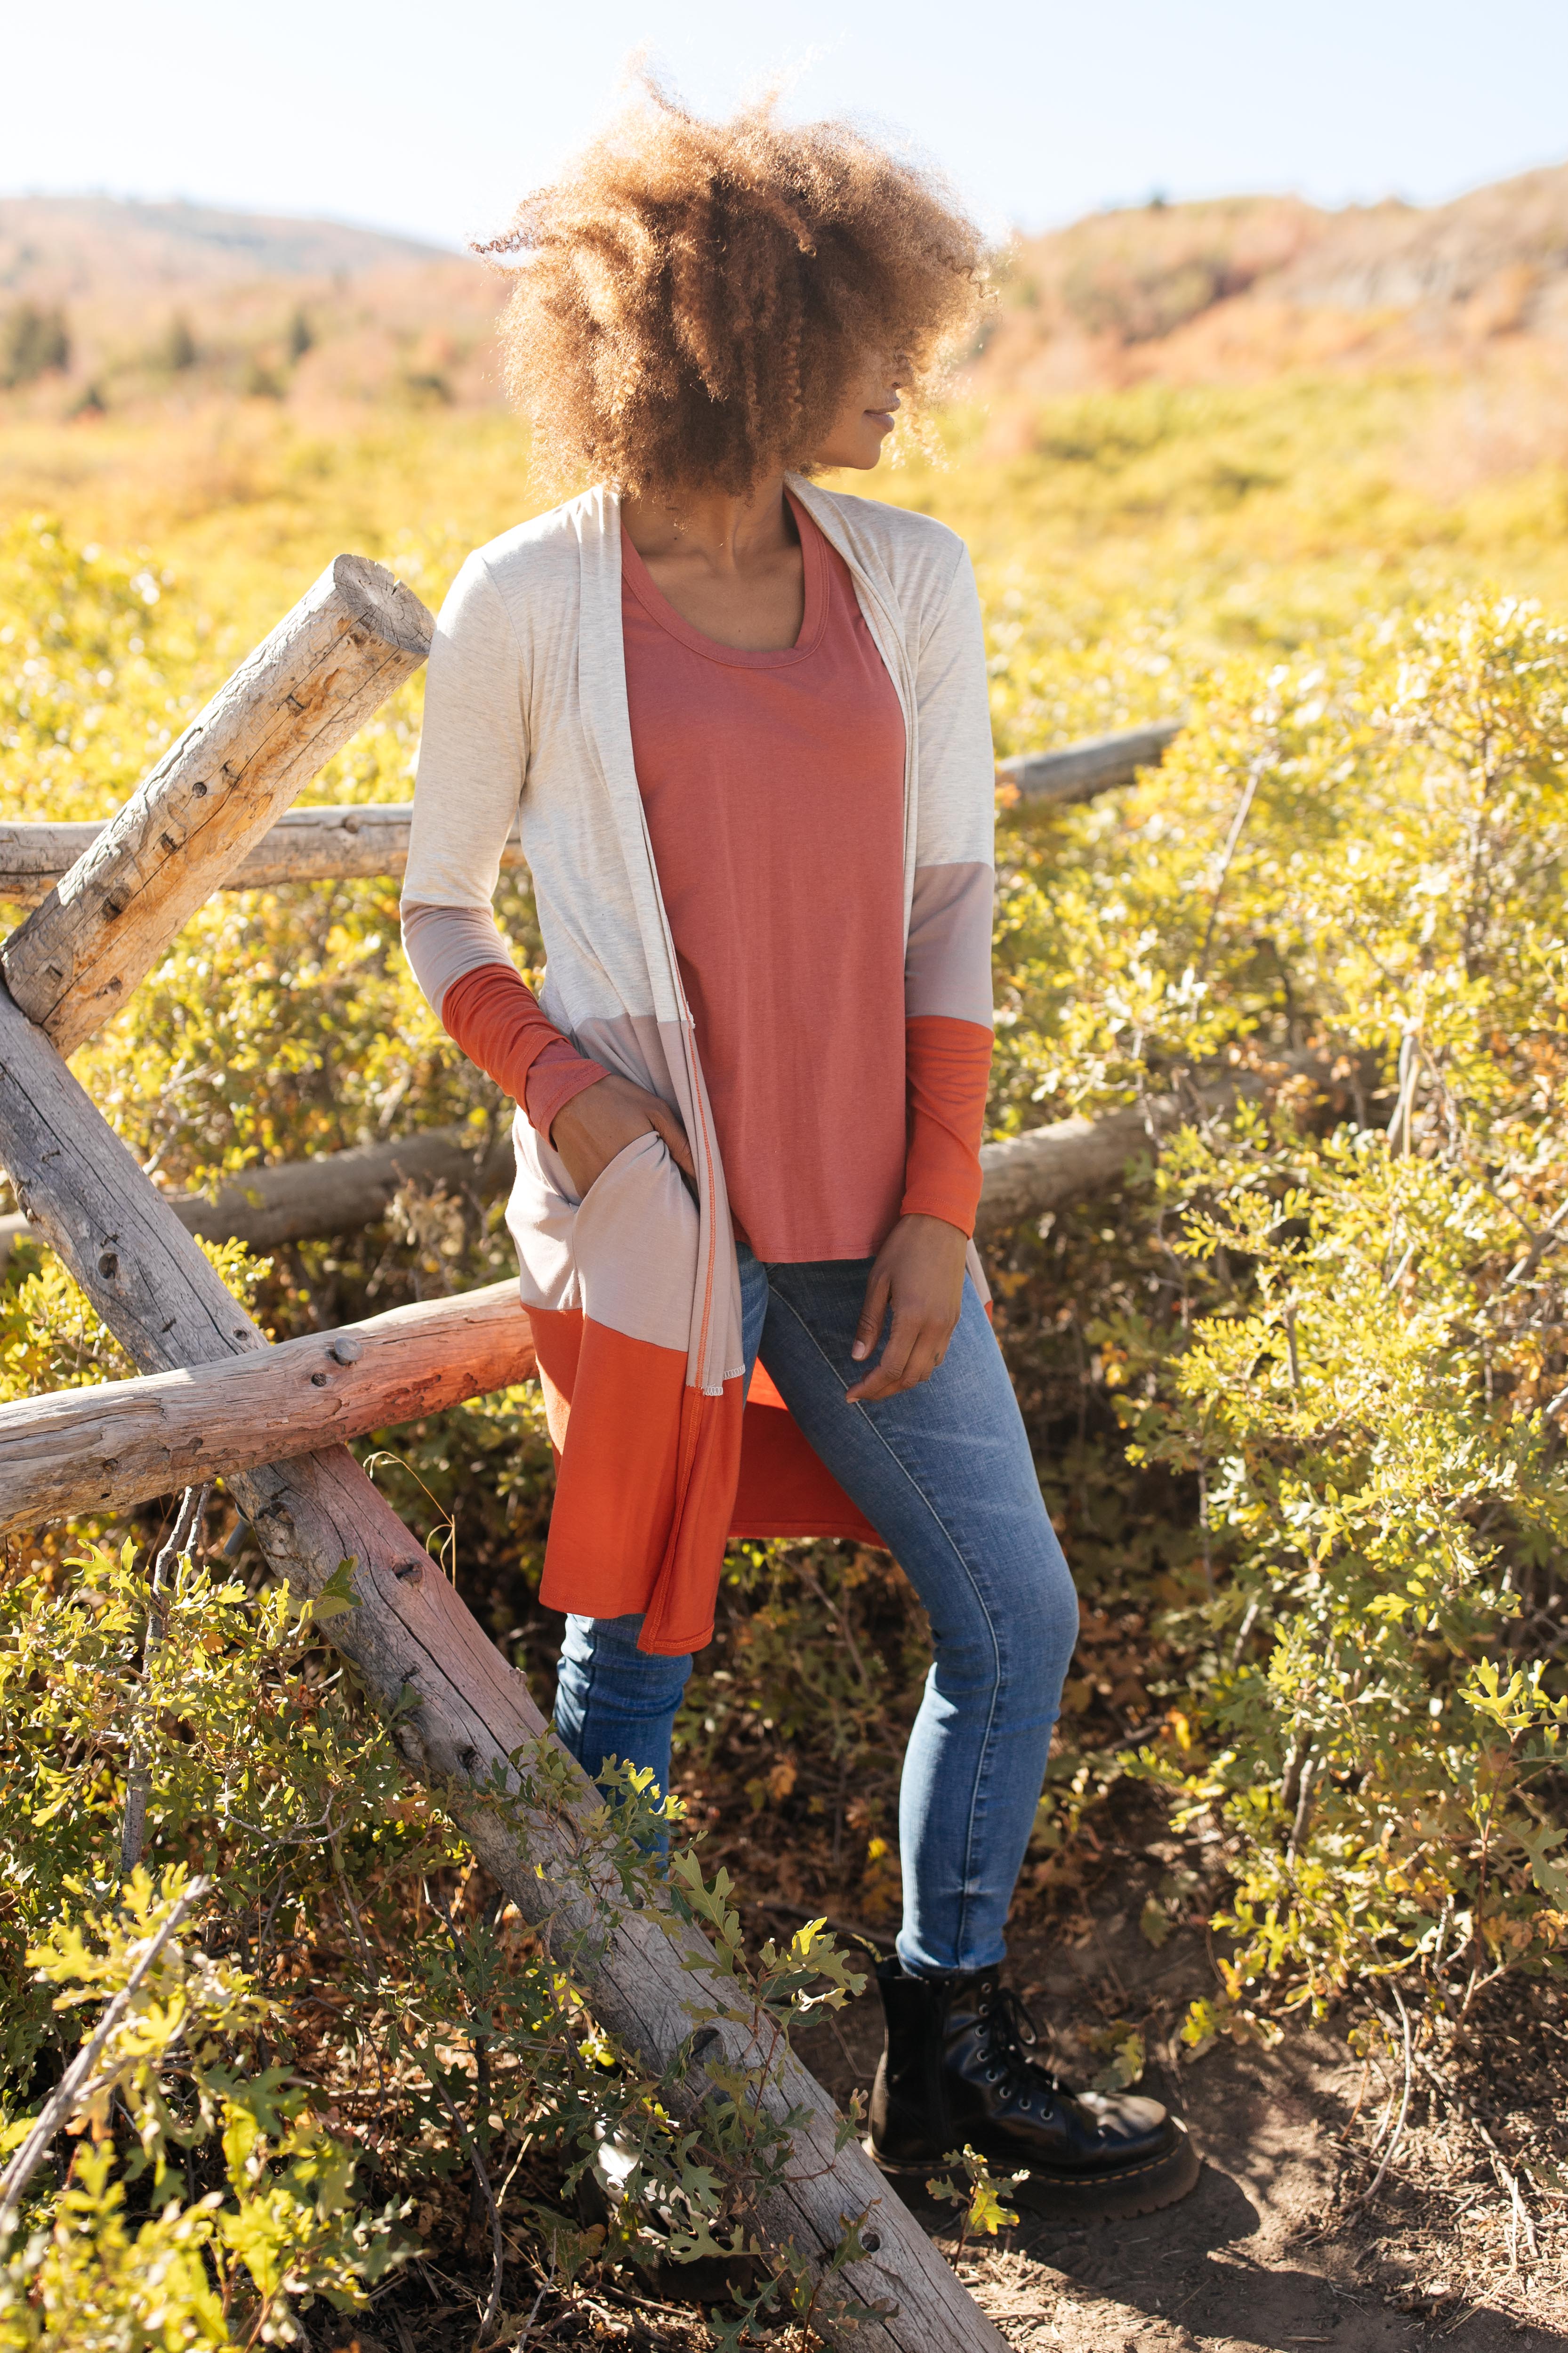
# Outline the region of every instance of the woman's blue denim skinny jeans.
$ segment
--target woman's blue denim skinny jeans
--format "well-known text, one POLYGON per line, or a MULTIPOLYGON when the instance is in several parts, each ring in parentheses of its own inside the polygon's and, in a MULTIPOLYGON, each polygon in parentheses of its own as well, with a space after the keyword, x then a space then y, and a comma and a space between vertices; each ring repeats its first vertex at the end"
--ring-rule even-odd
MULTIPOLYGON (((917 1974, 1004 1953, 1079 1607, 1039 1494, 1001 1351, 971 1282, 922 1388, 846 1405, 870 1259, 762 1266, 741 1247, 745 1367, 757 1358, 844 1492, 886 1539, 931 1619, 933 1664, 898 1793, 903 1929, 917 1974)), ((691 1659, 637 1649, 639 1617, 567 1619, 555 1729, 670 1779, 691 1659)))

